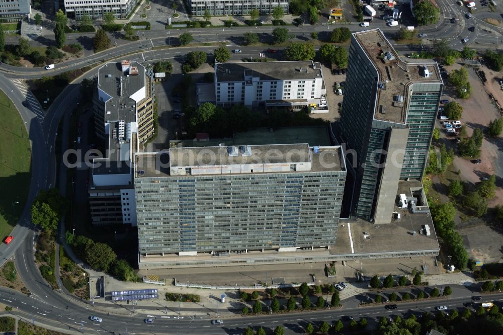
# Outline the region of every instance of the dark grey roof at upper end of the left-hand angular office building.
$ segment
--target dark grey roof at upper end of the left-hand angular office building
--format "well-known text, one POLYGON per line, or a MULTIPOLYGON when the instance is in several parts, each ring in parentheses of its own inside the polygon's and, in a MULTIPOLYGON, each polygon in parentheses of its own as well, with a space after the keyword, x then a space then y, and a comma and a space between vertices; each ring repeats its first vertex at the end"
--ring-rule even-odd
POLYGON ((105 122, 136 121, 136 102, 129 97, 145 87, 145 68, 135 61, 129 63, 129 68, 136 68, 131 73, 137 74, 123 71, 121 62, 106 63, 98 70, 98 88, 112 97, 105 104, 105 122))

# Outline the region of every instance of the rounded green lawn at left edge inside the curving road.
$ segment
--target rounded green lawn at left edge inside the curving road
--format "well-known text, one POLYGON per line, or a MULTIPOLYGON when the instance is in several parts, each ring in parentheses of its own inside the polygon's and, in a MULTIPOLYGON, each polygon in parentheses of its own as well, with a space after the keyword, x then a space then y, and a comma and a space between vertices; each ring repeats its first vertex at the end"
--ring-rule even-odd
MULTIPOLYGON (((18 110, 0 91, 0 238, 18 223, 30 188, 31 148, 18 110), (18 204, 19 202, 19 204, 18 204)), ((36 122, 36 121, 35 121, 36 122)))

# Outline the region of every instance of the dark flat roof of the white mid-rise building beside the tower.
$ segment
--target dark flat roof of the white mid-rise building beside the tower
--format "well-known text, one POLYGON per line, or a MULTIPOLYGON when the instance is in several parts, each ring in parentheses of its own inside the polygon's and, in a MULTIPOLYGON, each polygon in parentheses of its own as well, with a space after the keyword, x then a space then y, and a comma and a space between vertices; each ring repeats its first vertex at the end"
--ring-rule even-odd
POLYGON ((313 61, 247 62, 215 64, 217 81, 244 81, 244 76, 268 80, 321 78, 321 64, 313 61), (306 72, 307 69, 307 72, 306 72))

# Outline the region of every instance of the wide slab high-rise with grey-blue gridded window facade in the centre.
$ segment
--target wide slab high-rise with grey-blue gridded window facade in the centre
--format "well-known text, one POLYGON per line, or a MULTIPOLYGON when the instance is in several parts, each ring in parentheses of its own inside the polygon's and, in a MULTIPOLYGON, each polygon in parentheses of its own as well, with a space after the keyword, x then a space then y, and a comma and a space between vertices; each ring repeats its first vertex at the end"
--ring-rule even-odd
POLYGON ((339 146, 182 147, 135 157, 140 268, 239 265, 258 255, 279 262, 336 243, 346 179, 339 146))

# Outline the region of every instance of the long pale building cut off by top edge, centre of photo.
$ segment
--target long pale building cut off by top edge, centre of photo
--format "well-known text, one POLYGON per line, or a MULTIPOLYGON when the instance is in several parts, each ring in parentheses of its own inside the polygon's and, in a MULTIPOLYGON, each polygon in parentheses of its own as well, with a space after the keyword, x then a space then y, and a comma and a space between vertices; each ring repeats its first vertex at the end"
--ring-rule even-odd
POLYGON ((203 16, 206 10, 211 15, 247 15, 253 9, 260 14, 271 14, 275 7, 282 7, 288 14, 289 0, 187 0, 192 16, 203 16))

